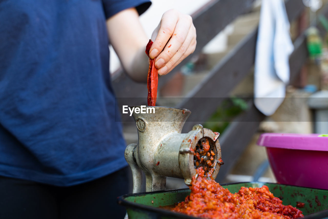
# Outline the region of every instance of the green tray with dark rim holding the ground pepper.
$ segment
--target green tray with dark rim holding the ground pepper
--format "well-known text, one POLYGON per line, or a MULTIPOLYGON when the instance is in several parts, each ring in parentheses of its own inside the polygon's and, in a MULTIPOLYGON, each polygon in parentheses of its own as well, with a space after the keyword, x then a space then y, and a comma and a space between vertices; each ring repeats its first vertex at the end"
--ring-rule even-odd
MULTIPOLYGON (((222 184, 224 188, 228 188, 232 193, 238 192, 241 186, 261 187, 262 185, 267 185, 269 190, 276 197, 279 197, 284 205, 296 207, 297 202, 305 203, 304 207, 299 208, 303 211, 304 218, 328 219, 328 190, 266 182, 222 184)), ((184 201, 189 194, 189 188, 135 193, 118 197, 118 203, 126 207, 129 219, 195 219, 195 217, 158 208, 184 201)))

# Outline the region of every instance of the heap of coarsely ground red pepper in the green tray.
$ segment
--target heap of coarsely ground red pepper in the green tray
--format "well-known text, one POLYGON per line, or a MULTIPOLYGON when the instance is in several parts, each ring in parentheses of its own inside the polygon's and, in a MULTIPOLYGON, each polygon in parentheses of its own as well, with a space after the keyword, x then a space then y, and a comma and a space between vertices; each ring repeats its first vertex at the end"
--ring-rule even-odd
MULTIPOLYGON (((196 169, 192 179, 191 193, 184 202, 172 210, 201 218, 298 218, 302 211, 274 197, 267 186, 261 188, 241 187, 232 194, 211 177, 204 177, 203 167, 196 169)), ((207 173, 208 176, 211 173, 207 173)))

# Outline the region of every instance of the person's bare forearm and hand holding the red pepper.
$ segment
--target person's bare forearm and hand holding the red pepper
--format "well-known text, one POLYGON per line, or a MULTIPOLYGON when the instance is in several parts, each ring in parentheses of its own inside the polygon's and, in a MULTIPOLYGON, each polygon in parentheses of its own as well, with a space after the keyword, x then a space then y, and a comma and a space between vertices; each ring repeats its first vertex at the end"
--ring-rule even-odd
MULTIPOLYGON (((128 75, 137 82, 146 82, 149 41, 138 19, 138 12, 130 8, 107 19, 110 42, 128 75)), ((195 51, 196 30, 189 15, 176 10, 165 12, 153 33, 150 57, 155 57, 158 74, 165 75, 195 51)))

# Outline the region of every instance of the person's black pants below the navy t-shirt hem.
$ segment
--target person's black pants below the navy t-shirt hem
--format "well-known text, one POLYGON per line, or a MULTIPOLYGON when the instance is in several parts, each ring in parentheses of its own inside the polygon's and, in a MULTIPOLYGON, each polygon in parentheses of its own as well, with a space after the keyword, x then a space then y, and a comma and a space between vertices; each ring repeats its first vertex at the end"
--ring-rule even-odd
POLYGON ((131 192, 130 168, 69 187, 0 177, 0 218, 124 218, 117 197, 131 192))

